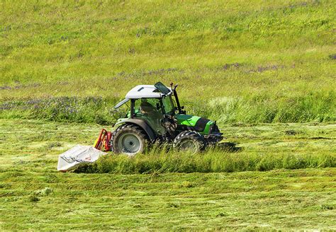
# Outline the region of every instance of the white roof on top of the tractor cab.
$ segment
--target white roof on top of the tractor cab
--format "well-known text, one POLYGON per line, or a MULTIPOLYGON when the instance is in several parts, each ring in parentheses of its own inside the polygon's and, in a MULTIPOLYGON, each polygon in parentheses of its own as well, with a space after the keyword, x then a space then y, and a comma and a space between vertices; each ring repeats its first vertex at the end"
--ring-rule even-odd
MULTIPOLYGON (((172 92, 171 92, 172 93, 172 92)), ((171 94, 168 93, 168 94, 171 94)), ((162 98, 163 93, 159 92, 155 86, 151 85, 141 85, 132 88, 125 96, 128 99, 138 99, 138 98, 162 98)))

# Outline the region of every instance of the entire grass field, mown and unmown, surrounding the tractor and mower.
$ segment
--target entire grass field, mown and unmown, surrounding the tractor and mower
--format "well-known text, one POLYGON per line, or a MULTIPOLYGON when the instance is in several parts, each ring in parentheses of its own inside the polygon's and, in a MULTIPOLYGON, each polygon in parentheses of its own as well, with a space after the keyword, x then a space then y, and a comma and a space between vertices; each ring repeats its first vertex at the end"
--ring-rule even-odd
POLYGON ((0 0, 0 230, 336 230, 335 1, 0 0), (58 173, 138 84, 239 152, 58 173))

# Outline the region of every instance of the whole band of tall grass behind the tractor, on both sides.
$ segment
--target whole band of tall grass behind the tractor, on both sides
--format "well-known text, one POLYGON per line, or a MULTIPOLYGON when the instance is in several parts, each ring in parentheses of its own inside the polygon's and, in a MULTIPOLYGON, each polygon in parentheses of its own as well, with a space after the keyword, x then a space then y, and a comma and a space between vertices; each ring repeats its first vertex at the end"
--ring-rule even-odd
MULTIPOLYGON (((116 98, 60 97, 30 100, 7 100, 0 103, 0 118, 45 119, 59 122, 96 122, 112 124, 125 111, 113 110, 116 98)), ((305 96, 271 98, 215 98, 213 100, 184 100, 191 115, 228 122, 335 122, 336 94, 310 93, 305 96)))

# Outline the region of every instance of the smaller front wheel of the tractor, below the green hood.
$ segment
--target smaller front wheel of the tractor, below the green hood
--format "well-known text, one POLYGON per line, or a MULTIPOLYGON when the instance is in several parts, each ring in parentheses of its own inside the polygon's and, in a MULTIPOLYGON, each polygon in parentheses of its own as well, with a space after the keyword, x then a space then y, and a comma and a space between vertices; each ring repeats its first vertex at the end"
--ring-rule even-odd
POLYGON ((179 151, 191 151, 197 153, 206 148, 206 141, 198 132, 181 132, 174 139, 174 149, 179 151))

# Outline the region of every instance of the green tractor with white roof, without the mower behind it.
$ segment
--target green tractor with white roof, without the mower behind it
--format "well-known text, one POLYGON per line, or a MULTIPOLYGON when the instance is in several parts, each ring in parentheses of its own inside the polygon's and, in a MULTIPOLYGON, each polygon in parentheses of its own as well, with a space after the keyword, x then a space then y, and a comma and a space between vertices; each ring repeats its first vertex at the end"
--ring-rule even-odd
POLYGON ((177 85, 168 88, 161 82, 154 86, 132 88, 115 109, 130 102, 130 110, 118 119, 110 146, 116 153, 135 155, 154 143, 172 144, 174 149, 203 151, 223 139, 215 122, 186 115, 177 96, 177 85))

